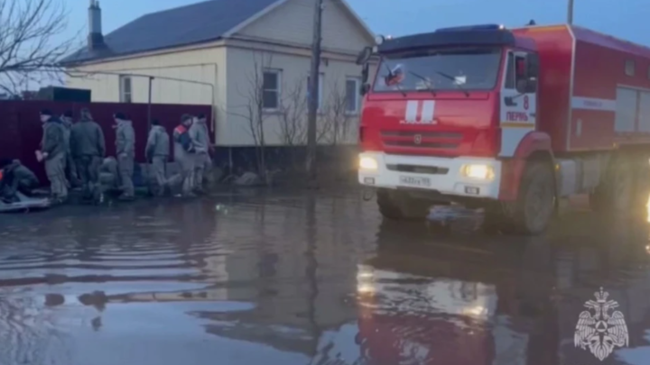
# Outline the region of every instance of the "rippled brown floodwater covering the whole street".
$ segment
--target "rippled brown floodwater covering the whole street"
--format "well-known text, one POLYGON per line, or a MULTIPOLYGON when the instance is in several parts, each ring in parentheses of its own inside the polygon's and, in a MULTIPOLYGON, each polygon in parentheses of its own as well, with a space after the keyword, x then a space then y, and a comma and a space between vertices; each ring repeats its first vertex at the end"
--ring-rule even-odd
POLYGON ((343 190, 2 215, 0 364, 647 364, 647 244, 584 212, 442 234, 343 190), (600 287, 629 339, 604 360, 574 344, 600 287))

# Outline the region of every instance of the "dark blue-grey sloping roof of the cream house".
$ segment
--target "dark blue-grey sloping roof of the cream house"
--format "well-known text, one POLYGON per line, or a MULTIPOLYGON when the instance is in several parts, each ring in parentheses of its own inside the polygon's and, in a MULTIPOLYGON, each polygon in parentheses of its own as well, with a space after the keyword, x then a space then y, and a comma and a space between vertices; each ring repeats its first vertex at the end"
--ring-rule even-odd
POLYGON ((238 24, 281 0, 210 0, 146 14, 104 36, 107 47, 84 47, 63 63, 85 62, 216 41, 238 24))

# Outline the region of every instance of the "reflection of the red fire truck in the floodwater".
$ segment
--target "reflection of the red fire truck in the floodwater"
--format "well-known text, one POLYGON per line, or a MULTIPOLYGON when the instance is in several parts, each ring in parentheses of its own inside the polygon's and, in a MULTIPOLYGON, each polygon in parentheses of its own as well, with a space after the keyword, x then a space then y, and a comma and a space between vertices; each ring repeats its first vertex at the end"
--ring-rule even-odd
MULTIPOLYGON (((650 309, 641 294, 648 233, 646 224, 592 219, 574 217, 547 238, 497 242, 434 241, 419 225, 382 224, 376 257, 357 272, 362 357, 371 364, 597 360, 572 343, 581 304, 604 286, 630 329, 647 328, 636 313, 650 309)), ((636 334, 631 346, 644 346, 636 334)), ((610 363, 640 364, 622 362, 627 351, 610 363)))

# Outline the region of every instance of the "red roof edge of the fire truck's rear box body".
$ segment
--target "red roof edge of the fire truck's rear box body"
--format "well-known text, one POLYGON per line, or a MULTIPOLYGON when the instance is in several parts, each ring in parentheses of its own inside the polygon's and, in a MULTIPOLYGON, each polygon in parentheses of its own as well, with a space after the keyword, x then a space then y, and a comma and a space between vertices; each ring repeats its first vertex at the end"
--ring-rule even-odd
POLYGON ((515 28, 515 33, 526 34, 527 32, 553 32, 566 30, 572 33, 576 41, 596 44, 611 50, 619 50, 631 55, 636 55, 645 59, 650 59, 650 47, 638 44, 632 41, 625 41, 620 38, 608 35, 602 32, 592 31, 578 25, 569 24, 551 24, 551 25, 534 25, 523 28, 515 28))

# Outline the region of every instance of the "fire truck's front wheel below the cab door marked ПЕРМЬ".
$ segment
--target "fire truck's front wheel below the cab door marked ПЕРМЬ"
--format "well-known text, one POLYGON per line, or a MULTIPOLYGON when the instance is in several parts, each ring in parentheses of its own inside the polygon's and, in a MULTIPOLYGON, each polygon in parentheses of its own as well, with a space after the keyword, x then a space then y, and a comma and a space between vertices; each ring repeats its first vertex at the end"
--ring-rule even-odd
POLYGON ((551 164, 531 161, 524 171, 519 196, 510 211, 506 231, 526 235, 543 233, 555 210, 555 178, 551 164))

